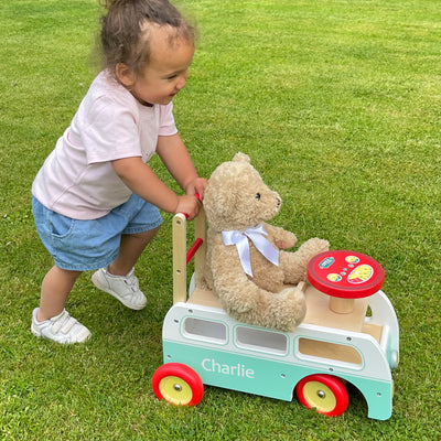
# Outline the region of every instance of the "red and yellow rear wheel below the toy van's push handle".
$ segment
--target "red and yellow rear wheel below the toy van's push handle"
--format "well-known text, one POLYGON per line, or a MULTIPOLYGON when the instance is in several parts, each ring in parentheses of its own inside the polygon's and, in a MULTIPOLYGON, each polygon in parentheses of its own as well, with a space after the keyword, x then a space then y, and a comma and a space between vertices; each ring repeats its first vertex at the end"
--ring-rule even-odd
POLYGON ((175 406, 196 406, 204 395, 200 376, 181 363, 168 363, 159 367, 152 378, 153 392, 175 406))

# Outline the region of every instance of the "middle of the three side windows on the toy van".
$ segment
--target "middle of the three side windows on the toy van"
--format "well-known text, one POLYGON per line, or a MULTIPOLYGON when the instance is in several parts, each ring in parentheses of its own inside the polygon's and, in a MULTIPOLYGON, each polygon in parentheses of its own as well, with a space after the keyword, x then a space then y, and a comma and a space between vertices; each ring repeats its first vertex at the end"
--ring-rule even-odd
POLYGON ((288 337, 280 332, 236 326, 235 334, 238 347, 277 355, 288 353, 288 337))

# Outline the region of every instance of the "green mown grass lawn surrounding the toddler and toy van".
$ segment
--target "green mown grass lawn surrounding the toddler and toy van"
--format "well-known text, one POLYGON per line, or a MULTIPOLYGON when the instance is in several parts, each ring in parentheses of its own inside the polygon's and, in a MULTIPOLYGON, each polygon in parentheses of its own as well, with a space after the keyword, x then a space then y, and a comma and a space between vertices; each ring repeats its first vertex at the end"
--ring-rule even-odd
MULTIPOLYGON (((181 0, 200 24, 182 138, 202 175, 247 152, 301 241, 368 254, 400 323, 388 421, 351 390, 330 419, 293 402, 206 387, 158 401, 171 305, 171 216, 137 273, 133 312, 82 276, 67 310, 84 345, 30 333, 52 265, 32 219, 35 173, 96 74, 95 0, 0 0, 0 439, 434 440, 441 426, 441 9, 439 0, 181 0)), ((171 185, 158 160, 151 164, 171 185)), ((437 434, 438 433, 438 434, 437 434)))

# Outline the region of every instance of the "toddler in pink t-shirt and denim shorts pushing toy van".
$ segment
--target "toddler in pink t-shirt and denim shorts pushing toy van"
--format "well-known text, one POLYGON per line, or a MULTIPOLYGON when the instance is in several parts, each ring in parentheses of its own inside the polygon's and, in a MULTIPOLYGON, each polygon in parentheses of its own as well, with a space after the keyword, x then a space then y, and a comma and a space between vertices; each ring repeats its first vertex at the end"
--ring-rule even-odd
POLYGON ((159 208, 200 209, 198 178, 181 140, 172 99, 185 86, 194 29, 168 0, 110 0, 101 19, 105 68, 32 185, 36 229, 54 259, 31 331, 60 343, 90 332, 65 310, 82 273, 133 310, 144 308, 133 267, 162 222, 159 208), (147 165, 157 152, 185 192, 176 195, 147 165))

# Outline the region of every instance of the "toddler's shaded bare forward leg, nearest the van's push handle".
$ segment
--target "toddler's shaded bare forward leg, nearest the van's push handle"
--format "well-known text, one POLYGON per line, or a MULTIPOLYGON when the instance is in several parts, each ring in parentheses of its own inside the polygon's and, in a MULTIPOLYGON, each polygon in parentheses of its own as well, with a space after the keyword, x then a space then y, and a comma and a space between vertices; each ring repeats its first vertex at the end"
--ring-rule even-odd
POLYGON ((114 276, 126 276, 135 267, 149 241, 157 235, 160 227, 131 235, 121 236, 121 246, 117 259, 108 266, 114 276))

